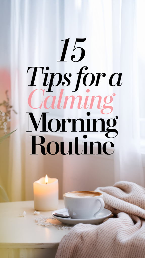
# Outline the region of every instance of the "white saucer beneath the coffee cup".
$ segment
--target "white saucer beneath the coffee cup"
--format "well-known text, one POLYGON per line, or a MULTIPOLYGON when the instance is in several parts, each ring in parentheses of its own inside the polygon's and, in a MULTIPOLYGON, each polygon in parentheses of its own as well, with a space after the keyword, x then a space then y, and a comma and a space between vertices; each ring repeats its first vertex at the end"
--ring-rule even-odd
MULTIPOLYGON (((55 213, 59 213, 59 214, 63 214, 63 215, 68 215, 66 209, 59 209, 57 211, 54 211, 55 213)), ((105 220, 106 218, 108 218, 111 215, 111 211, 109 211, 108 209, 103 209, 103 211, 101 211, 99 214, 97 214, 97 216, 95 218, 92 219, 72 219, 72 218, 61 218, 61 217, 57 217, 54 216, 52 214, 52 216, 59 220, 60 222, 66 224, 66 225, 75 225, 78 223, 83 223, 83 224, 99 224, 101 222, 103 222, 103 220, 105 220)))

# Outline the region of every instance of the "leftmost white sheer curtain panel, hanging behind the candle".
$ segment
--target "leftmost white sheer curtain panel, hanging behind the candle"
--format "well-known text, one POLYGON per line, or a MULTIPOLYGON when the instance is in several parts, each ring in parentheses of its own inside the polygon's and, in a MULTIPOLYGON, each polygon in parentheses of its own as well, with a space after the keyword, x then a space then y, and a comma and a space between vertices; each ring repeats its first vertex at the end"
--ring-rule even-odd
MULTIPOLYGON (((56 53, 59 36, 58 1, 11 1, 11 104, 18 114, 11 114, 11 131, 17 130, 10 141, 9 196, 12 201, 33 199, 33 182, 44 176, 44 160, 41 154, 32 153, 32 137, 43 135, 28 131, 28 114, 33 112, 36 120, 46 110, 31 109, 28 96, 36 88, 43 89, 42 72, 30 85, 32 71, 28 66, 50 66, 56 71, 56 53)), ((47 71, 46 71, 47 72, 47 71)), ((44 77, 44 76, 43 76, 44 77)), ((33 101, 38 106, 41 94, 36 93, 33 101)), ((42 95, 43 96, 43 95, 42 95)), ((40 129, 41 130, 41 129, 40 129)), ((49 159, 49 158, 48 158, 49 159)))

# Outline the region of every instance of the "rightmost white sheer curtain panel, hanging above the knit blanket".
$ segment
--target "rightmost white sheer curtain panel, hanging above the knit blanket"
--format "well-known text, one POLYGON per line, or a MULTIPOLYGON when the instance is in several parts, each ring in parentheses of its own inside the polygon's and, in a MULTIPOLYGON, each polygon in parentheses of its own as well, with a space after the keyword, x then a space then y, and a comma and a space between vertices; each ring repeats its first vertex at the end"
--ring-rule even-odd
POLYGON ((136 1, 112 2, 113 72, 122 73, 115 110, 119 137, 115 138, 115 181, 144 186, 140 150, 139 78, 136 1))

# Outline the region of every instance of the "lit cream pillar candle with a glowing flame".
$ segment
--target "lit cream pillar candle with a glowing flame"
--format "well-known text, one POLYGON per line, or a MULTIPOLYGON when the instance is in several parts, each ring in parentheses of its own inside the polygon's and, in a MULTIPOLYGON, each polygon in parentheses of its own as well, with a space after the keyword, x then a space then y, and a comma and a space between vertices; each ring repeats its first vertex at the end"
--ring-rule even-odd
POLYGON ((33 183, 34 208, 37 211, 53 211, 58 208, 58 179, 40 178, 33 183))

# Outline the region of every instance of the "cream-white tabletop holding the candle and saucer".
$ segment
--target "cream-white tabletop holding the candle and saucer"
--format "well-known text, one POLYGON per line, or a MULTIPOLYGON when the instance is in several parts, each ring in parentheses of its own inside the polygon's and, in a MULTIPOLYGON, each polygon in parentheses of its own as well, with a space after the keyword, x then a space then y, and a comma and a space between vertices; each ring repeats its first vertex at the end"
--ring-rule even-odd
MULTIPOLYGON (((64 208, 59 200, 58 209, 64 208)), ((0 248, 52 248, 58 247, 60 240, 68 230, 37 225, 34 215, 34 201, 16 201, 0 203, 0 248), (25 217, 19 214, 26 211, 25 217)), ((40 212, 52 217, 52 211, 40 212)), ((64 225, 64 224, 62 224, 64 225)))

